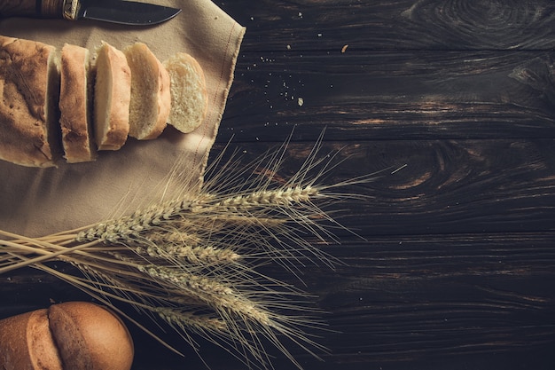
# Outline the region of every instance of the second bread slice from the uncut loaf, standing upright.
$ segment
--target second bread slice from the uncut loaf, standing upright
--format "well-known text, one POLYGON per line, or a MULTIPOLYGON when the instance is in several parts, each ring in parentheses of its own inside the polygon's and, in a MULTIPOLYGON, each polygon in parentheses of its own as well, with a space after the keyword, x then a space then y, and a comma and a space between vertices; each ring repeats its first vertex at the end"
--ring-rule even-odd
POLYGON ((103 42, 97 49, 94 128, 98 150, 118 150, 129 134, 131 70, 122 51, 103 42))

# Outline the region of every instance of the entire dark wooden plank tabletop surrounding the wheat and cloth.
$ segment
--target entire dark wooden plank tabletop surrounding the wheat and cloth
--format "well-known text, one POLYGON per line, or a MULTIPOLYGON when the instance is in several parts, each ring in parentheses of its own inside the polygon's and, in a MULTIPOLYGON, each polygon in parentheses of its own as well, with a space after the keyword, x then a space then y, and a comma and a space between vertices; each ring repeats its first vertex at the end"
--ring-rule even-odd
MULTIPOLYGON (((214 155, 232 138, 248 161, 293 132, 286 176, 325 129, 324 152, 346 159, 329 181, 407 165, 348 189, 367 196, 340 204, 360 237, 324 247, 345 264, 303 269, 331 332, 324 362, 291 348, 302 366, 555 368, 555 3, 216 4, 247 31, 214 155)), ((11 279, 4 316, 80 297, 48 276, 11 279)), ((134 368, 202 368, 133 333, 134 368)))

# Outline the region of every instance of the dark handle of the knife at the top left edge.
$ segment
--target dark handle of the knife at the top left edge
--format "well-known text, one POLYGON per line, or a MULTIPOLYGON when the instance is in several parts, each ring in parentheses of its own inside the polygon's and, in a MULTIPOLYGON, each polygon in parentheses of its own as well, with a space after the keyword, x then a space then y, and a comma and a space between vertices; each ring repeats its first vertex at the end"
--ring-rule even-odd
POLYGON ((71 3, 77 2, 66 0, 3 0, 0 2, 0 18, 66 18, 64 8, 68 5, 71 6, 71 3))

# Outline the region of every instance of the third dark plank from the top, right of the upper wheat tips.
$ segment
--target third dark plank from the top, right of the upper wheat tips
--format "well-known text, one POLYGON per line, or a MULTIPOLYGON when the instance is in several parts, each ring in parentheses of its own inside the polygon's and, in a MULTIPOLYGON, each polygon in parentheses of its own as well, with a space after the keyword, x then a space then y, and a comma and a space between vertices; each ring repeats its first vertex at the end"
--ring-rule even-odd
MULTIPOLYGON (((264 143, 238 145, 246 162, 267 149, 264 143)), ((290 145, 282 176, 292 176, 310 149, 310 142, 290 145)), ((364 237, 555 230, 552 139, 330 140, 321 153, 335 151, 341 164, 324 179, 330 184, 407 165, 344 190, 366 197, 339 207, 345 209, 342 222, 364 237)))

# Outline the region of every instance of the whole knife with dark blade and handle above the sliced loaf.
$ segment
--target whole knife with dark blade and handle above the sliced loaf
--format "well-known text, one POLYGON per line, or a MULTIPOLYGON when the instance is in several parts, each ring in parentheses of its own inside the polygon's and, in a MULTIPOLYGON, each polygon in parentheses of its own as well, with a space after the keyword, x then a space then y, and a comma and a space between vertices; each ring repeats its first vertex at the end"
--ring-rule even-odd
POLYGON ((34 17, 65 20, 103 20, 150 26, 171 20, 181 9, 123 0, 3 0, 0 18, 34 17))

